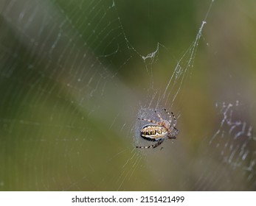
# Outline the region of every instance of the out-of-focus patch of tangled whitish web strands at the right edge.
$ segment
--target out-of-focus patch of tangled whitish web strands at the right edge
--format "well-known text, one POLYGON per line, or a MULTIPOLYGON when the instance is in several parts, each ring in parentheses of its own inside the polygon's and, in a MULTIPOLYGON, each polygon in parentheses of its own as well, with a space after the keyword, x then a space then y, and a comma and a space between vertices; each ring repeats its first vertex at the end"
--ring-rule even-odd
POLYGON ((218 103, 216 107, 220 110, 222 120, 210 140, 210 146, 214 148, 220 164, 212 172, 209 182, 216 187, 216 184, 220 185, 220 181, 225 180, 226 185, 222 185, 222 190, 256 188, 256 137, 252 132, 252 124, 243 119, 243 113, 246 112, 244 105, 236 101, 233 104, 218 103), (221 170, 229 173, 219 177, 218 172, 221 170))

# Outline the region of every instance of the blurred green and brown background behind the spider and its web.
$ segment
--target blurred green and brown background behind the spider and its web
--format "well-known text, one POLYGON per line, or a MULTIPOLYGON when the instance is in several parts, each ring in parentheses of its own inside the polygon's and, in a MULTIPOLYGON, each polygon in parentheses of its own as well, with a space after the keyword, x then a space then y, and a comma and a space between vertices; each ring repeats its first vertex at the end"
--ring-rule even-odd
POLYGON ((255 190, 256 2, 210 4, 1 0, 0 190, 255 190), (162 107, 177 140, 135 149, 162 107))

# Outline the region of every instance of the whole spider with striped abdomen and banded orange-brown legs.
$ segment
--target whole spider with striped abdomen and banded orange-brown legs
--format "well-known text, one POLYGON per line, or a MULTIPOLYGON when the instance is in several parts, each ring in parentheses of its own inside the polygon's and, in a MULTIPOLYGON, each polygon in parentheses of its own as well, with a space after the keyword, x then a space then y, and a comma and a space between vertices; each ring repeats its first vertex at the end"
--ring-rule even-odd
POLYGON ((166 109, 163 110, 165 110, 165 112, 167 113, 169 120, 163 119, 162 116, 160 116, 159 113, 156 112, 156 110, 156 116, 158 116, 160 121, 155 121, 148 118, 138 118, 139 120, 152 123, 146 124, 144 127, 142 127, 142 129, 140 129, 140 136, 147 141, 156 141, 156 143, 150 146, 136 146, 136 148, 156 148, 156 146, 162 144, 167 138, 176 139, 176 135, 178 135, 179 133, 179 130, 175 127, 177 123, 176 117, 173 115, 173 113, 169 113, 166 109))

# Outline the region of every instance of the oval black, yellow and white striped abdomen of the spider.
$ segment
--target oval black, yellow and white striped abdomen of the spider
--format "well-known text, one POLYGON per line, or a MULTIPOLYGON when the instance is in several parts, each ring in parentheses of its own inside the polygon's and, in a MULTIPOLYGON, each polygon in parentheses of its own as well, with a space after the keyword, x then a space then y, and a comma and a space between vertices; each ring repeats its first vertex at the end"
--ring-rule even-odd
POLYGON ((159 141, 160 139, 165 138, 167 133, 165 127, 156 124, 145 125, 140 130, 141 137, 148 141, 159 141))

